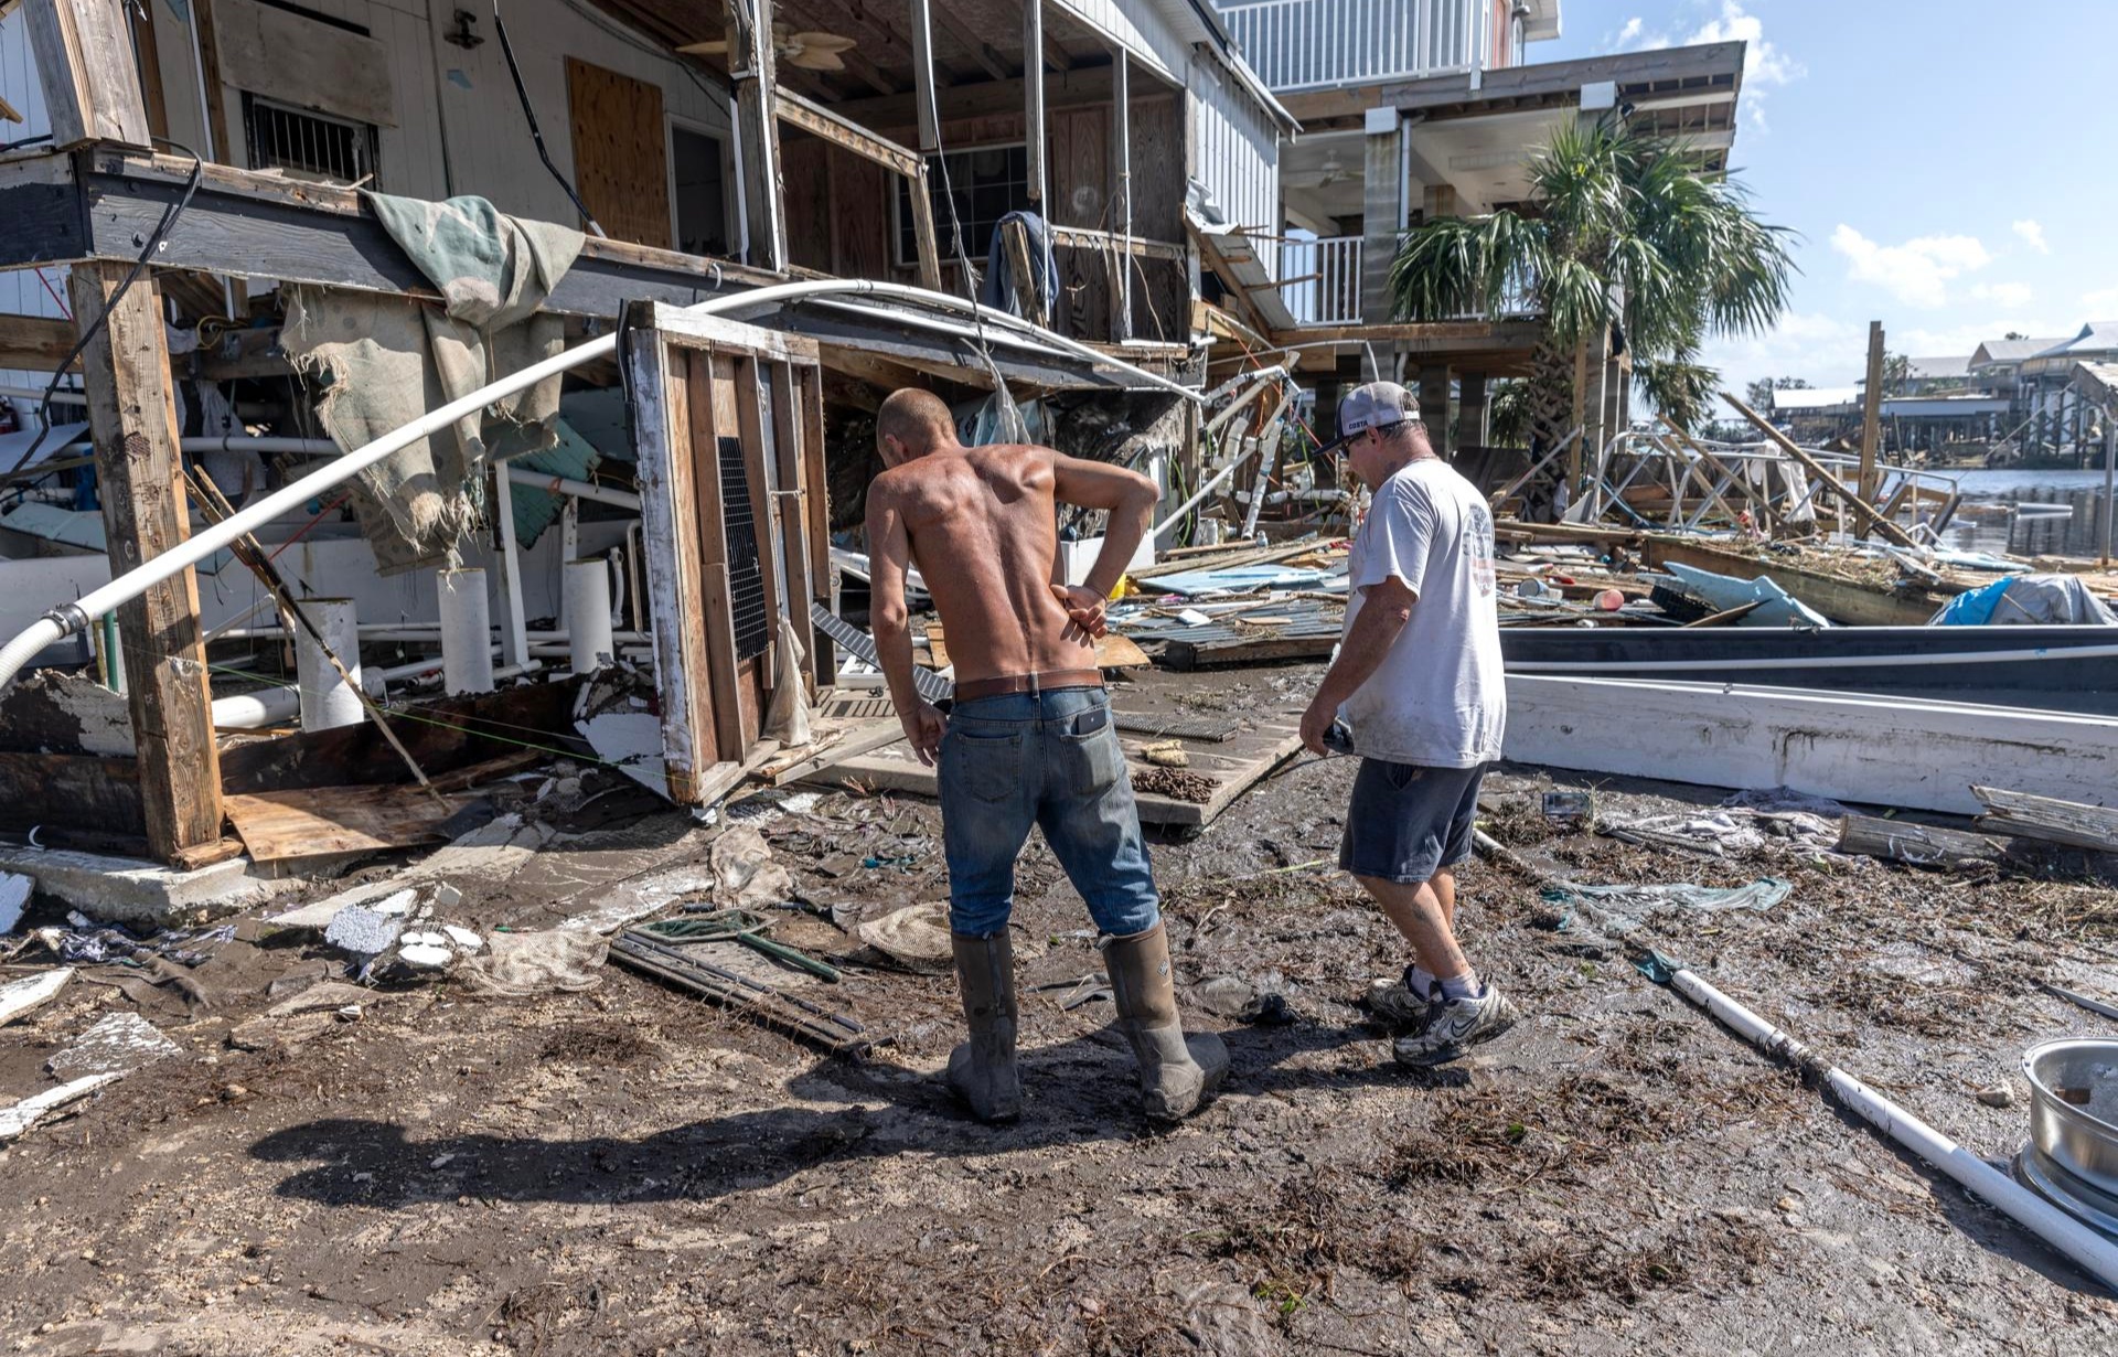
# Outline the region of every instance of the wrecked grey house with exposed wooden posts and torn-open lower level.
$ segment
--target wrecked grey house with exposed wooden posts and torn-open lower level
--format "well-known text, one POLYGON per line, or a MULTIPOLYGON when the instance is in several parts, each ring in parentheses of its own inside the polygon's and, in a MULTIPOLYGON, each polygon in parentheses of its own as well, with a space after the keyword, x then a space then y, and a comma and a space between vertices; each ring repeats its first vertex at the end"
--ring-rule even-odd
POLYGON ((1201 229, 1277 220, 1294 131, 1195 0, 19 0, 0 42, 0 828, 178 866, 430 836, 421 783, 604 707, 716 800, 775 701, 828 726, 892 387, 1195 483, 1201 229))

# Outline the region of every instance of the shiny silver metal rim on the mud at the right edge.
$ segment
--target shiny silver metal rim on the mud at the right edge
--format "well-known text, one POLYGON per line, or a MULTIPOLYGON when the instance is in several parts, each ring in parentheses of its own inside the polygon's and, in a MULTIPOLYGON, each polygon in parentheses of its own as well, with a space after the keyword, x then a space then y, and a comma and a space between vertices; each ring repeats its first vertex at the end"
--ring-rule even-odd
POLYGON ((2029 1145, 2016 1173, 2057 1207, 2118 1234, 2118 1042, 2042 1042, 2023 1054, 2029 1145))

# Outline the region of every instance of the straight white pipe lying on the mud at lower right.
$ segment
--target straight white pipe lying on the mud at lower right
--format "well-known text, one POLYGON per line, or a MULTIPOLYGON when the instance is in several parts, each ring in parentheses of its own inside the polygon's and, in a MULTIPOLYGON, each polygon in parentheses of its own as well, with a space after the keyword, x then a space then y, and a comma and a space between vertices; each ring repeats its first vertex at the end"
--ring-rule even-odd
MULTIPOLYGON (((1694 972, 1675 972, 1671 984, 1758 1050, 1798 1065, 1821 1065, 1794 1035, 1749 1012, 1694 972)), ((2090 1230, 1836 1065, 1826 1069, 1824 1080, 1841 1103, 1857 1111, 1877 1130, 1927 1160, 1953 1177, 1966 1192, 1976 1194, 2002 1215, 2071 1258, 2105 1287, 2118 1291, 2118 1241, 2090 1230)))

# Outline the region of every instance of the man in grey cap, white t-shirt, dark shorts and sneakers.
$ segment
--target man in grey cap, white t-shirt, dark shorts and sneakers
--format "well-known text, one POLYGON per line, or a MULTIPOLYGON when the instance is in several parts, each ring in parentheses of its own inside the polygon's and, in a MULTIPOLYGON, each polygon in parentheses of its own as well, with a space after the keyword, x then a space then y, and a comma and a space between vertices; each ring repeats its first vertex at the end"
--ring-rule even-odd
POLYGON ((1347 565, 1345 637, 1303 713, 1303 743, 1362 756, 1339 866, 1413 944, 1404 980, 1368 1006, 1406 1029, 1404 1065, 1453 1061, 1516 1012, 1464 959, 1455 864, 1470 855, 1478 783, 1500 758, 1508 688, 1493 603, 1493 512, 1434 455, 1394 381, 1339 402, 1339 442, 1375 491, 1347 565), (1334 739, 1336 737, 1336 739, 1334 739))

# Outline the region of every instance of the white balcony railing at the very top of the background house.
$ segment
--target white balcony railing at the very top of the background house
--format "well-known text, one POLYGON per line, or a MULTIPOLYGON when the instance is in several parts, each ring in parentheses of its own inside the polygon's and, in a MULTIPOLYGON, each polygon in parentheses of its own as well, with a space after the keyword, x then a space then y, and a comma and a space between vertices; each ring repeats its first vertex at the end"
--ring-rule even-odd
POLYGON ((1491 0, 1216 0, 1275 93, 1483 66, 1491 0))

